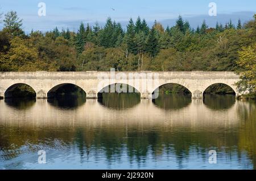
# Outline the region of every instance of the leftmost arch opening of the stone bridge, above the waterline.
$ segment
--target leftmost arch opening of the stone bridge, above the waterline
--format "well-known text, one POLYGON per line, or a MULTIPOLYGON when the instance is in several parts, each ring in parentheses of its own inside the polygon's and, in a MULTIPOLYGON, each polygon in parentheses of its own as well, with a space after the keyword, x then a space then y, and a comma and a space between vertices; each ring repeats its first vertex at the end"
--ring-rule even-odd
POLYGON ((22 97, 22 96, 31 96, 31 97, 36 97, 36 90, 29 85, 28 83, 23 83, 23 82, 19 82, 19 83, 14 83, 12 85, 10 85, 4 93, 5 98, 12 98, 12 97, 22 97), (24 90, 22 90, 22 92, 27 92, 24 93, 23 95, 19 95, 19 92, 14 92, 15 89, 17 89, 20 86, 25 86, 23 87, 24 90))

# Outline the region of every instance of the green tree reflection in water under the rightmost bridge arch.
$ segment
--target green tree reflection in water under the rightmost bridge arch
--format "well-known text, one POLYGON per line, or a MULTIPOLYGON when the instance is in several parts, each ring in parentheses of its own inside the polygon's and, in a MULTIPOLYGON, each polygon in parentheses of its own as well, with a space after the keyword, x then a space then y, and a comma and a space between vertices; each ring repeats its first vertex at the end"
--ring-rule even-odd
POLYGON ((204 104, 212 110, 226 110, 236 103, 235 95, 204 95, 204 104))

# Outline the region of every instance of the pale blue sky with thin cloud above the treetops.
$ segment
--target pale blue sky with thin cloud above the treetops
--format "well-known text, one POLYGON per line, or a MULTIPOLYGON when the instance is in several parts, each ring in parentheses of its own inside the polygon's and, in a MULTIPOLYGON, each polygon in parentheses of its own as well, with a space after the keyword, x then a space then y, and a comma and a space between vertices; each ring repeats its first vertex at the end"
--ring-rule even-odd
MULTIPOLYGON (((204 19, 208 26, 213 27, 216 21, 225 23, 232 19, 234 23, 240 18, 246 22, 253 18, 256 13, 256 1, 236 0, 0 0, 0 12, 14 10, 23 19, 23 29, 26 32, 33 30, 48 31, 55 27, 69 28, 76 31, 81 22, 94 24, 98 22, 104 26, 106 18, 111 17, 117 22, 126 26, 130 18, 138 16, 146 19, 151 25, 158 20, 167 25, 173 26, 177 16, 182 15, 187 19, 193 28, 199 25, 204 19), (46 3, 46 16, 38 15, 38 3, 46 3), (217 16, 209 16, 209 3, 217 5, 217 16)), ((3 23, 0 24, 0 28, 3 23)))

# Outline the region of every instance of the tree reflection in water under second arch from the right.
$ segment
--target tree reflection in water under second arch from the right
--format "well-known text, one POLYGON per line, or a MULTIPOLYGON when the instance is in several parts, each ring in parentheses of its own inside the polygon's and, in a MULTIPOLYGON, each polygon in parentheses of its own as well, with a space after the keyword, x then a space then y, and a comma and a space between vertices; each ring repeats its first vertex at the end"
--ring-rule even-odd
POLYGON ((191 103, 191 97, 177 94, 159 94, 158 98, 153 99, 152 102, 165 110, 178 110, 187 107, 191 103))

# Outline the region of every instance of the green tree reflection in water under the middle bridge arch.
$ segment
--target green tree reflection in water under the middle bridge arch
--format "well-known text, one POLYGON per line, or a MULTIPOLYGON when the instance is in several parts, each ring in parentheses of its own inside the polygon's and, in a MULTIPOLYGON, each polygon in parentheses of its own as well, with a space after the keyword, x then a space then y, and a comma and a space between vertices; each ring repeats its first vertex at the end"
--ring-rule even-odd
POLYGON ((141 102, 141 95, 139 93, 102 93, 98 102, 108 108, 123 110, 141 102))

